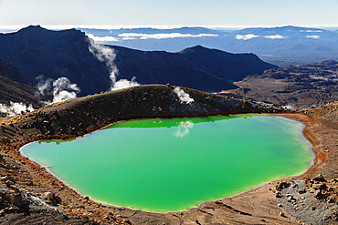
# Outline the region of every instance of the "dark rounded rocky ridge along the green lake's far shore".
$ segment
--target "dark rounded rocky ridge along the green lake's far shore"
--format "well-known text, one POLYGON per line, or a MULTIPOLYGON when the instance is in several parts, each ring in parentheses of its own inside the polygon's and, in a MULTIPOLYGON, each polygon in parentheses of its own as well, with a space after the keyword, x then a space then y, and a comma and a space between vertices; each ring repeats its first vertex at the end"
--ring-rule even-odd
POLYGON ((171 85, 131 87, 79 97, 5 120, 0 126, 0 135, 8 138, 22 137, 29 130, 31 138, 64 138, 80 136, 124 119, 286 110, 272 104, 222 97, 185 87, 182 90, 194 102, 182 102, 171 85))

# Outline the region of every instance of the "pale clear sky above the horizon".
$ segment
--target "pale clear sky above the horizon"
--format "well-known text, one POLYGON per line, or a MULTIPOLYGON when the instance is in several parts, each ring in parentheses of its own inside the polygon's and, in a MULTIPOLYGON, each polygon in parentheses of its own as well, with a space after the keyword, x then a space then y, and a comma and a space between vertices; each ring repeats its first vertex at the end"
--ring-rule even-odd
POLYGON ((338 26, 338 0, 0 0, 0 26, 338 26))

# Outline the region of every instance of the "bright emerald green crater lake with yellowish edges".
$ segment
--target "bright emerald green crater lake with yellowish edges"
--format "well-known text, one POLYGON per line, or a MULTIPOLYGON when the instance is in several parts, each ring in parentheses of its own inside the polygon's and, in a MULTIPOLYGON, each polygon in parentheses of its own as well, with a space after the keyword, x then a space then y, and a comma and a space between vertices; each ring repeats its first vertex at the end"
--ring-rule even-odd
POLYGON ((136 210, 188 210, 312 165, 303 125, 258 115, 124 121, 71 141, 21 148, 90 199, 136 210))

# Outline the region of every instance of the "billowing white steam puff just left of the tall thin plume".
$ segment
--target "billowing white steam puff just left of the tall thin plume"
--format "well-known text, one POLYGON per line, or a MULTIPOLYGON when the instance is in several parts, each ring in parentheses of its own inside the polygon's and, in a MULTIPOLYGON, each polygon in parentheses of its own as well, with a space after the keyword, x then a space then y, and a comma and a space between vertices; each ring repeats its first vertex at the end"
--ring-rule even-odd
POLYGON ((53 94, 53 100, 44 101, 45 105, 75 98, 80 91, 78 85, 71 83, 67 77, 58 77, 58 79, 53 80, 52 78, 45 79, 44 76, 39 76, 37 79, 39 80, 37 83, 38 97, 47 95, 48 90, 51 90, 53 94))

